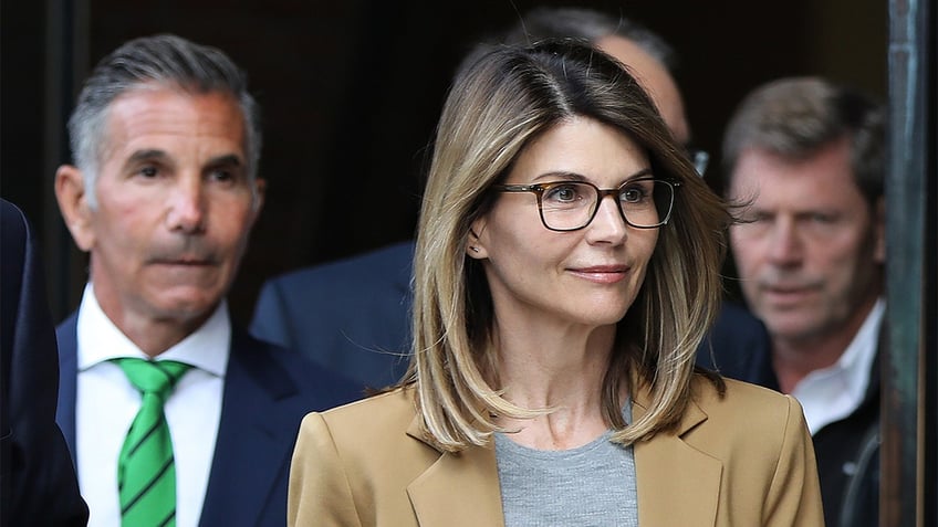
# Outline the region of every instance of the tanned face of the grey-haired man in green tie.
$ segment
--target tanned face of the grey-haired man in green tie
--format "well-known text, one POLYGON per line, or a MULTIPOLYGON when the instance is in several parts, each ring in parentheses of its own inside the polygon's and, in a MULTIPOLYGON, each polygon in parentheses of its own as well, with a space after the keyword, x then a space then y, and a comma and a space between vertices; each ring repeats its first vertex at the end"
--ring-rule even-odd
POLYGON ((147 86, 112 103, 104 137, 97 207, 81 207, 70 224, 91 252, 98 303, 118 327, 200 325, 234 278, 260 210, 237 102, 147 86))

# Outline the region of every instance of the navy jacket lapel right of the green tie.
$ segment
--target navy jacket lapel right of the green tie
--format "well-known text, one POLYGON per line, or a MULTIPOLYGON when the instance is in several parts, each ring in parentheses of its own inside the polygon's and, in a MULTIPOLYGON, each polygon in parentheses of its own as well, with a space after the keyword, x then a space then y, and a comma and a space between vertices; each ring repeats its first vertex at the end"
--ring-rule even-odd
POLYGON ((268 508, 285 510, 285 472, 299 428, 288 402, 298 389, 260 346, 232 328, 202 526, 259 525, 268 508), (280 497, 282 504, 273 503, 280 497))

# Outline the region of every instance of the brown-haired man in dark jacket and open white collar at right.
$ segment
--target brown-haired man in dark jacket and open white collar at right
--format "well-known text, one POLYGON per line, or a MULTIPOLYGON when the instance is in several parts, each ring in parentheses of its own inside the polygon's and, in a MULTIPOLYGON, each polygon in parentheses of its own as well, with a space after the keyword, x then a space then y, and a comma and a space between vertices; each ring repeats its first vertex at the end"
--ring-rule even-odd
POLYGON ((885 260, 884 109, 817 77, 748 95, 723 139, 730 243, 771 350, 723 371, 794 396, 814 438, 825 523, 878 525, 885 260))

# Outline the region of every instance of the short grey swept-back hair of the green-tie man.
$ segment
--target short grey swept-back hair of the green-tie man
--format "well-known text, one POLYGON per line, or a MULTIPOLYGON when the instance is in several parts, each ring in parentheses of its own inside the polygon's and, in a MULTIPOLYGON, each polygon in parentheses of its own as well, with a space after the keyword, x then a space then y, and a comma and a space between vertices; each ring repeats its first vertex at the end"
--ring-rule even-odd
POLYGON ((95 186, 108 141, 111 105, 122 95, 153 87, 231 95, 244 118, 248 175, 251 180, 257 177, 262 135, 260 109, 248 92, 246 74, 216 48, 173 34, 145 36, 124 43, 97 63, 69 118, 72 155, 84 175, 90 207, 97 202, 95 186))

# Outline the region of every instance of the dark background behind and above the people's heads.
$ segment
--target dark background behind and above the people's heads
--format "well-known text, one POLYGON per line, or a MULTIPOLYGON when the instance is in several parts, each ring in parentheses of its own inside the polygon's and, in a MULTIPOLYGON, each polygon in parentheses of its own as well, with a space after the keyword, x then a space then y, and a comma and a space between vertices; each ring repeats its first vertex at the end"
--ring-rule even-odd
POLYGON ((715 188, 723 125, 755 85, 820 74, 885 101, 885 0, 3 0, 0 194, 41 234, 55 318, 77 306, 86 278, 52 192, 55 168, 70 159, 64 122, 81 80, 123 41, 177 33, 221 48, 249 74, 269 187, 230 295, 247 322, 263 280, 411 236, 454 68, 535 4, 622 12, 675 46, 715 188))

